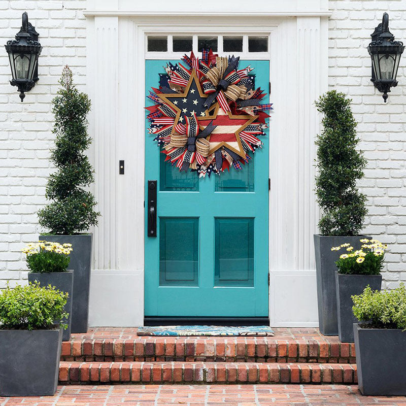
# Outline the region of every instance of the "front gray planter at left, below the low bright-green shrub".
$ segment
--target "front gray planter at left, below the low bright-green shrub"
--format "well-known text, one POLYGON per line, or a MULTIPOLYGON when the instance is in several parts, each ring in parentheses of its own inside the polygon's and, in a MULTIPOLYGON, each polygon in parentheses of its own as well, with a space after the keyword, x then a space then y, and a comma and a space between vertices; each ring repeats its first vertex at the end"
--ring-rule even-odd
POLYGON ((62 329, 0 329, 0 396, 52 396, 58 383, 62 329))

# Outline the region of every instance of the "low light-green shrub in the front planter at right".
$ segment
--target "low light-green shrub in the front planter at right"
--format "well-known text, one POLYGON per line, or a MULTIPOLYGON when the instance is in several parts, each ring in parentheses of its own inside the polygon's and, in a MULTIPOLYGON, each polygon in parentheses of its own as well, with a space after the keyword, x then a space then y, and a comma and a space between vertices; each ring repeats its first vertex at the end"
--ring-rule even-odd
POLYGON ((354 316, 370 322, 376 328, 406 329, 406 288, 401 283, 397 289, 373 291, 367 286, 360 295, 351 296, 354 316))

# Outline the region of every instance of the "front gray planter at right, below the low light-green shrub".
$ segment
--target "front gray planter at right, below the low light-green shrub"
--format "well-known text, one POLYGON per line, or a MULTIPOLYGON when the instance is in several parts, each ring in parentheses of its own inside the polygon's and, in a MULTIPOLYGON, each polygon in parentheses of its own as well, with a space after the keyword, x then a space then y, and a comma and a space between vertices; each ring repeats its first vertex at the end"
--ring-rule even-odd
POLYGON ((354 323, 359 390, 363 395, 406 395, 406 331, 354 323))

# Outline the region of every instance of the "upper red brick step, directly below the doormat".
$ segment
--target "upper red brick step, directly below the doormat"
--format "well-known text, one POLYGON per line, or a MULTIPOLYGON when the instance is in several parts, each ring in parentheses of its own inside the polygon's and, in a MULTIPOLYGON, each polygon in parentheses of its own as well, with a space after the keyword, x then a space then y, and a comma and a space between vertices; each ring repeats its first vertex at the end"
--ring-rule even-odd
MULTIPOLYGON (((327 341, 330 340, 330 341, 327 341)), ((276 337, 74 338, 62 343, 62 361, 96 362, 314 362, 355 363, 354 344, 276 337)))

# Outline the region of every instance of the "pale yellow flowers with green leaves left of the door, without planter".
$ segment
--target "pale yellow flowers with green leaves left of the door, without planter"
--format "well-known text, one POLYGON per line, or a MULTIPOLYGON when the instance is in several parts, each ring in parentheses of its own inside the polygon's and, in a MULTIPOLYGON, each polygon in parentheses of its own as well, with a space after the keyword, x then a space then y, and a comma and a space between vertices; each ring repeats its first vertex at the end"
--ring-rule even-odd
POLYGON ((65 272, 71 261, 72 244, 40 241, 28 244, 21 251, 27 256, 27 267, 31 272, 65 272))

